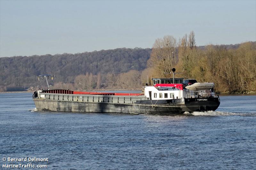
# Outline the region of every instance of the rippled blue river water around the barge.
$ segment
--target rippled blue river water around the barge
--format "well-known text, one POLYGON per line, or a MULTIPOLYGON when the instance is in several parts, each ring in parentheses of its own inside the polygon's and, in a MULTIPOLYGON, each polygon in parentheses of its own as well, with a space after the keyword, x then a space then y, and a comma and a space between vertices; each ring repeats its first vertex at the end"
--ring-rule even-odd
POLYGON ((0 165, 46 164, 49 170, 256 169, 256 96, 220 100, 214 112, 171 116, 57 113, 37 112, 31 93, 1 93, 0 165), (2 160, 8 157, 48 161, 2 160))

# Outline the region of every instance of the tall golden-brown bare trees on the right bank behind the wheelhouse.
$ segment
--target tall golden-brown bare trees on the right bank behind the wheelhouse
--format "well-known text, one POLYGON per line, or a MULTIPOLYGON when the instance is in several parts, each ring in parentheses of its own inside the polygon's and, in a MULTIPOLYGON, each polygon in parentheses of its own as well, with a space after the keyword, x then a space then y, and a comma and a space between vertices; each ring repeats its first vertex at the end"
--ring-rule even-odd
POLYGON ((171 77, 175 67, 176 76, 214 82, 217 92, 255 91, 256 42, 196 47, 193 31, 179 41, 164 36, 153 45, 149 67, 156 77, 171 77))

